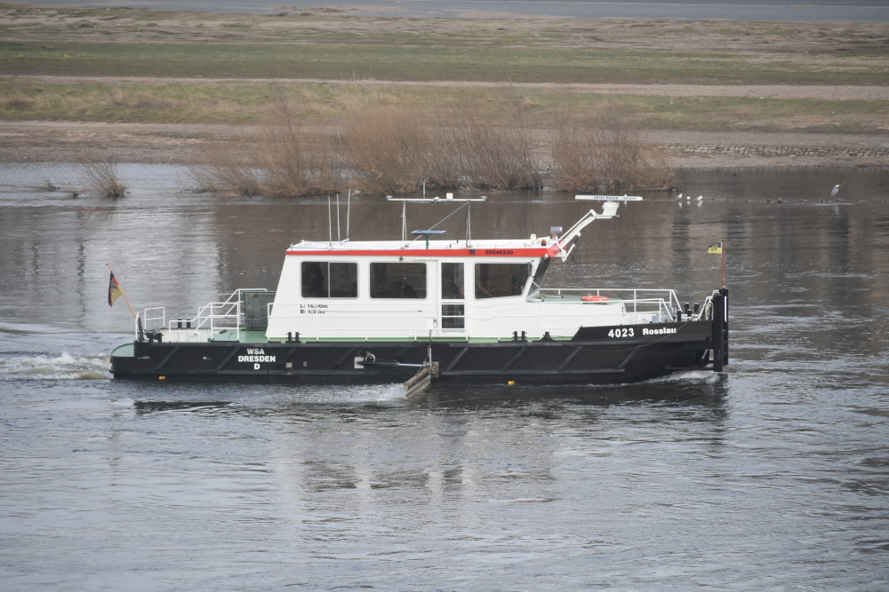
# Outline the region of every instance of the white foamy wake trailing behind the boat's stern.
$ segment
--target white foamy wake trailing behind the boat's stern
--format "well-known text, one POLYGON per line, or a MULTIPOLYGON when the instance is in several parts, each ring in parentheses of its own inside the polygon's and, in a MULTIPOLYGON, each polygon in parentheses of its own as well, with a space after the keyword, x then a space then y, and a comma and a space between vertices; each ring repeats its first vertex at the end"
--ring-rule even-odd
POLYGON ((62 352, 46 356, 30 352, 0 356, 0 381, 4 380, 108 380, 108 357, 74 356, 62 352))

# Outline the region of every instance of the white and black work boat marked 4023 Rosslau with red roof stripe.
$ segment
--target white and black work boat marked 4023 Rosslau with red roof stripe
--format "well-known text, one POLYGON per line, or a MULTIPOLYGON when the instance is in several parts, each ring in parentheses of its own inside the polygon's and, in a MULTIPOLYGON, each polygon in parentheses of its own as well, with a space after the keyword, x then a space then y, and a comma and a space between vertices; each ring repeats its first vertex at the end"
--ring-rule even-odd
MULTIPOLYGON (((670 288, 553 288, 553 263, 581 231, 638 196, 578 195, 594 207, 563 232, 471 237, 472 202, 396 199, 402 235, 303 240, 286 249, 275 290, 238 288, 170 319, 136 316, 111 354, 115 379, 166 382, 447 384, 633 383, 728 363, 728 290, 683 306, 670 288), (466 212, 466 235, 407 232, 408 203, 466 212), (601 209, 597 211, 597 206, 601 209)), ((413 207, 413 206, 412 206, 413 207)), ((445 217, 445 219, 447 218, 445 217)))

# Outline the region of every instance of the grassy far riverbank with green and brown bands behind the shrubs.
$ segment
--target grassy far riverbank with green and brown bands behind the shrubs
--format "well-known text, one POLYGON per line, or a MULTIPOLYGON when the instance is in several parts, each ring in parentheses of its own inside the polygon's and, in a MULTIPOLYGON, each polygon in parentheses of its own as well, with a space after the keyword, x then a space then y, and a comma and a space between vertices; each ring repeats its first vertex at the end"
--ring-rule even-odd
POLYGON ((540 130, 544 149, 554 114, 595 125, 618 111, 677 168, 889 162, 879 23, 0 3, 0 27, 0 162, 250 153, 273 97, 300 128, 330 133, 356 98, 404 114, 471 108, 493 126, 540 130))

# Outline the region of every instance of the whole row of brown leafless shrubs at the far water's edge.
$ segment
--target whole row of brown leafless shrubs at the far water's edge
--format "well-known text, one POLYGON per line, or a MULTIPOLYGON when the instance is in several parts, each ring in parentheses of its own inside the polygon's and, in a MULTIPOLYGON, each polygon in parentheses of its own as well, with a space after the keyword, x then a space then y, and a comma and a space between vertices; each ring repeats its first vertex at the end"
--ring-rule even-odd
POLYGON ((524 121, 521 104, 506 99, 493 112, 478 105, 387 105, 357 93, 346 101, 337 134, 309 134, 284 92, 272 106, 252 152, 216 146, 192 170, 197 187, 236 195, 397 194, 433 190, 628 191, 668 189, 666 157, 646 147, 627 114, 553 117, 552 147, 524 121))

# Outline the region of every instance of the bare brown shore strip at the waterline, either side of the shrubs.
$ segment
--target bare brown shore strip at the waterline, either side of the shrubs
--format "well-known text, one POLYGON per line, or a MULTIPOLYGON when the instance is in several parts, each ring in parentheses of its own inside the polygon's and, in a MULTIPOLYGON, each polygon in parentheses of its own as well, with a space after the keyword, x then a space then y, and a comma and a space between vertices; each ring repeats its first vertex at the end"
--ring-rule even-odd
MULTIPOLYGON (((77 162, 100 148, 118 162, 194 164, 220 143, 249 152, 259 133, 247 125, 0 122, 0 162, 77 162)), ((889 166, 885 133, 651 130, 644 138, 679 169, 889 166)))

